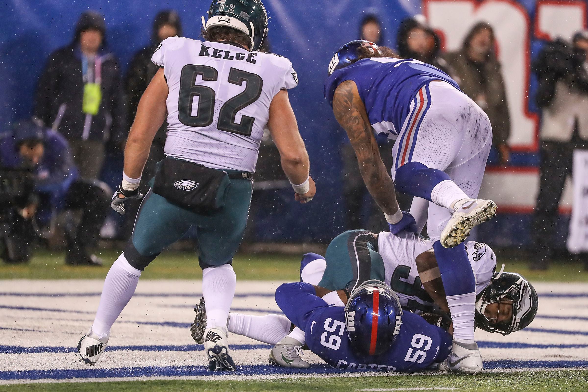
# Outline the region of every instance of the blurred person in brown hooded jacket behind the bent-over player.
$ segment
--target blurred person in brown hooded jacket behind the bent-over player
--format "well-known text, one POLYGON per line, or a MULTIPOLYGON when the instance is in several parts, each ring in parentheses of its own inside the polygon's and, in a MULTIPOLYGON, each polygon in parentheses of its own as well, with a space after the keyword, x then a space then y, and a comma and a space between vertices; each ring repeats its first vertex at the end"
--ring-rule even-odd
POLYGON ((492 143, 498 150, 500 163, 505 165, 510 160, 507 145, 510 116, 495 46, 492 27, 486 22, 479 22, 467 33, 462 49, 447 53, 445 58, 459 75, 462 91, 488 115, 492 124, 492 143))

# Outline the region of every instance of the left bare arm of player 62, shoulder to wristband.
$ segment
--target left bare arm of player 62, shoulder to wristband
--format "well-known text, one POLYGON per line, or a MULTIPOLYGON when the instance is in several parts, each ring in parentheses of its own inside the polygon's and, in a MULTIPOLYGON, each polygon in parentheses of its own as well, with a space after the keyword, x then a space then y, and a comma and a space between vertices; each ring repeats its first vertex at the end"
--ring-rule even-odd
POLYGON ((168 83, 161 68, 139 101, 135 121, 126 140, 124 172, 131 178, 141 177, 155 133, 165 120, 168 92, 168 83))

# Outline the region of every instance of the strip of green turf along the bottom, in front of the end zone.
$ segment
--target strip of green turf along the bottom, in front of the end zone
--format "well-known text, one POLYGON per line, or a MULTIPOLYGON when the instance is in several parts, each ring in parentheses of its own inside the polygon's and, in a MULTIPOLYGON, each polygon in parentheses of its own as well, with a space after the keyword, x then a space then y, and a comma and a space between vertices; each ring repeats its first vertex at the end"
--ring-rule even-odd
POLYGON ((366 376, 330 378, 278 378, 272 380, 206 381, 152 380, 106 383, 49 383, 0 386, 0 391, 74 392, 74 391, 181 391, 181 392, 347 392, 347 391, 584 391, 588 370, 520 371, 516 373, 482 373, 478 376, 366 376))

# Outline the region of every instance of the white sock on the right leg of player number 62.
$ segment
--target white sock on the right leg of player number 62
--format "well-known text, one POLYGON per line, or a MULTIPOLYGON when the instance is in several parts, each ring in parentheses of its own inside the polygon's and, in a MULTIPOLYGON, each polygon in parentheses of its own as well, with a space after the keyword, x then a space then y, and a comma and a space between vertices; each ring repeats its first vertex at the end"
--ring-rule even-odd
POLYGON ((226 328, 237 277, 230 264, 202 270, 202 296, 206 302, 206 328, 226 328))

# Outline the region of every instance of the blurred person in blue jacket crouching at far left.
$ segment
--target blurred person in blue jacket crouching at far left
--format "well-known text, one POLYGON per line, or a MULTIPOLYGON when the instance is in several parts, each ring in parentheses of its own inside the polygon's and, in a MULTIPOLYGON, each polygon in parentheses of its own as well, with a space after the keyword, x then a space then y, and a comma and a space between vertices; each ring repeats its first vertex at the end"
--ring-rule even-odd
POLYGON ((101 265, 88 249, 96 245, 108 211, 108 186, 79 177, 68 142, 59 132, 45 131, 34 122, 21 122, 15 126, 13 140, 18 166, 32 171, 35 192, 49 203, 52 213, 82 210, 79 225, 73 222, 73 215, 65 225, 66 264, 101 265))

